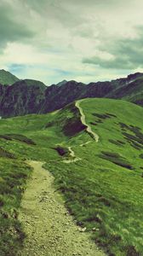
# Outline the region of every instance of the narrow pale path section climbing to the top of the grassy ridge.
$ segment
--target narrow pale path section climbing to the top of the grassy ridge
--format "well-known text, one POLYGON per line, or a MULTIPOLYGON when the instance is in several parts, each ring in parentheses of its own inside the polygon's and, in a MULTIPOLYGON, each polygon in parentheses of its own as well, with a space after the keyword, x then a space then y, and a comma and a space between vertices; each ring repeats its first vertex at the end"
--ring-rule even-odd
MULTIPOLYGON (((81 100, 81 101, 82 101, 82 100, 81 100)), ((83 108, 80 107, 80 102, 81 102, 81 101, 77 101, 77 102, 75 103, 75 106, 79 109, 79 112, 80 112, 80 114, 81 114, 81 121, 82 121, 83 125, 86 125, 86 126, 87 126, 87 129, 86 129, 86 130, 89 132, 89 135, 94 138, 94 140, 96 141, 96 143, 98 143, 98 141, 99 141, 99 136, 98 136, 96 133, 94 133, 94 131, 92 131, 91 127, 86 123, 85 114, 83 113, 83 108)))

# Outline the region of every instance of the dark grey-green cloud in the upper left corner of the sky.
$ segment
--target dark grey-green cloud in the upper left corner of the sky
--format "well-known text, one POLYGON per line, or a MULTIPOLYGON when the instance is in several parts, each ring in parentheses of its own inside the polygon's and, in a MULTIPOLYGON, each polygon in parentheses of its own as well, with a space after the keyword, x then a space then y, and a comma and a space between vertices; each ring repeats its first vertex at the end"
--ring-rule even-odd
POLYGON ((21 20, 15 19, 14 10, 8 3, 0 4, 0 47, 14 41, 32 38, 33 32, 21 20))

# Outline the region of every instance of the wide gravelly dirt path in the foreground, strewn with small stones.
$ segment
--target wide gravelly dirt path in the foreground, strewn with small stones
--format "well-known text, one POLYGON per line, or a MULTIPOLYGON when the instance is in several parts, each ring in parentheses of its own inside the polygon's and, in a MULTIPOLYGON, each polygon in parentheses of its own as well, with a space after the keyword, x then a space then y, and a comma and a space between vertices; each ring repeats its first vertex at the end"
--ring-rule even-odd
POLYGON ((54 177, 43 163, 31 161, 34 168, 27 184, 19 219, 27 234, 19 256, 101 256, 89 234, 81 232, 66 210, 61 195, 54 191, 54 177))

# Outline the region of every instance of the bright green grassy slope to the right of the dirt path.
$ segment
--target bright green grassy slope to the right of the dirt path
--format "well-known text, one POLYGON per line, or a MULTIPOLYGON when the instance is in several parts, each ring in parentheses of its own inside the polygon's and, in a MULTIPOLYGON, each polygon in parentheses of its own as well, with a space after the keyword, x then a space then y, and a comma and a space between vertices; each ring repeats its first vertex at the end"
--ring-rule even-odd
POLYGON ((91 125, 100 136, 99 143, 79 133, 78 137, 70 138, 69 143, 82 160, 71 165, 49 163, 47 168, 54 173, 69 211, 78 224, 91 231, 94 241, 111 255, 141 255, 142 148, 134 148, 124 137, 120 123, 127 126, 130 134, 134 134, 136 126, 141 133, 142 108, 102 99, 85 100, 81 107, 89 124, 100 121, 91 125), (111 118, 105 118, 106 113, 111 118), (132 131, 129 131, 130 125, 133 125, 132 131), (89 140, 91 143, 79 146, 89 140))

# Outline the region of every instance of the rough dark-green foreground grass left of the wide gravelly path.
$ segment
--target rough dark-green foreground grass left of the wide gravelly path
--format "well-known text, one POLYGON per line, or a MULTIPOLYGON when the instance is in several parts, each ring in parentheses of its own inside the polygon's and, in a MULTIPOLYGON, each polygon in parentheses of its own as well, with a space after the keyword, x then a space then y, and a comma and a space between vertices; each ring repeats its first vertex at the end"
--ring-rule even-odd
POLYGON ((0 255, 14 256, 25 234, 18 220, 21 196, 31 169, 20 160, 0 157, 0 255))

